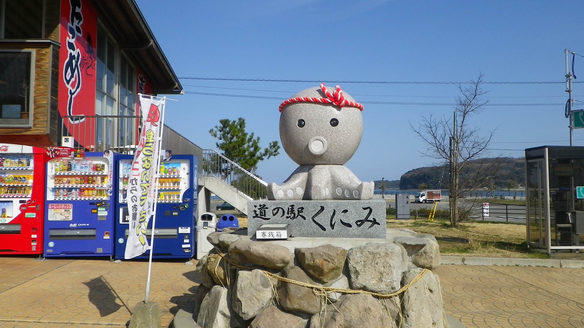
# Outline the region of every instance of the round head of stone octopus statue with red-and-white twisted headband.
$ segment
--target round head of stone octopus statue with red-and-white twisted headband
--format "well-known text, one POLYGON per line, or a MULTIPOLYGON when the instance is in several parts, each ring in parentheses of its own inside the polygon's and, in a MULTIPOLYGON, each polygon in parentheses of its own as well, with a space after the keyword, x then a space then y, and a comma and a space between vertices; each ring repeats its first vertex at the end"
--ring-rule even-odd
POLYGON ((339 86, 334 92, 321 84, 296 93, 280 105, 284 150, 298 165, 345 164, 361 142, 362 109, 339 86))

